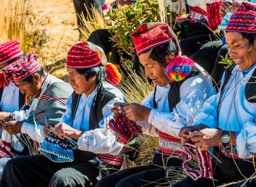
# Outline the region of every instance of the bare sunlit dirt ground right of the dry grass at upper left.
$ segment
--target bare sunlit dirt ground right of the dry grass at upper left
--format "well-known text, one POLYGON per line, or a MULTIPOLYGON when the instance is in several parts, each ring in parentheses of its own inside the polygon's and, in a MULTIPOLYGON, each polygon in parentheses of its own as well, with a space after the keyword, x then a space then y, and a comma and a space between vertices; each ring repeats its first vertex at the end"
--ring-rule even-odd
POLYGON ((44 67, 58 78, 66 80, 65 58, 79 39, 76 13, 72 0, 31 0, 33 11, 42 18, 47 43, 42 47, 44 67))

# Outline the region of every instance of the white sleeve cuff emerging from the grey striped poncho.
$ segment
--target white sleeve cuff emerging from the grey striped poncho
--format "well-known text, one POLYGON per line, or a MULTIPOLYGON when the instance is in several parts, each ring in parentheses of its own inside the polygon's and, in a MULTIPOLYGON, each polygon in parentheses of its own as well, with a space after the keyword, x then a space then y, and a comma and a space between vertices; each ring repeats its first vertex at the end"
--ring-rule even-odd
POLYGON ((21 133, 25 133, 33 139, 33 141, 43 142, 44 137, 44 126, 37 125, 35 127, 35 124, 31 124, 29 122, 23 122, 23 125, 21 126, 21 133))

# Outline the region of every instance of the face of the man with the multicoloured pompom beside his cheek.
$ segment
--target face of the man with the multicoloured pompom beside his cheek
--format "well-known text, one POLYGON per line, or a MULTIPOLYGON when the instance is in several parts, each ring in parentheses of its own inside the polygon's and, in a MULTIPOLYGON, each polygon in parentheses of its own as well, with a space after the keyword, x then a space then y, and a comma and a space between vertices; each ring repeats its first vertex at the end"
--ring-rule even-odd
POLYGON ((160 63, 152 60, 150 52, 139 54, 139 62, 145 69, 145 75, 159 86, 166 86, 170 80, 165 75, 165 67, 162 67, 160 63))

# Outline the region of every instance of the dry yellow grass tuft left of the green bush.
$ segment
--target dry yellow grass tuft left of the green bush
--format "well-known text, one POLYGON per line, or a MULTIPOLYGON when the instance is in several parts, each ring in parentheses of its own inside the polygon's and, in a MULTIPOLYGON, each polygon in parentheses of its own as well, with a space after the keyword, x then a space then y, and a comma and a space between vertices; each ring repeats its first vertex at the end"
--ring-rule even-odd
POLYGON ((82 26, 79 25, 81 39, 87 41, 89 35, 91 35, 93 31, 96 31, 97 29, 106 29, 106 27, 103 18, 103 11, 101 9, 93 6, 92 15, 89 14, 87 7, 85 7, 85 9, 87 11, 87 17, 85 17, 83 13, 78 15, 82 22, 82 26))

